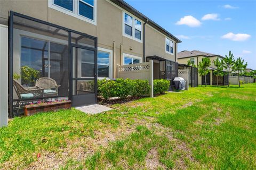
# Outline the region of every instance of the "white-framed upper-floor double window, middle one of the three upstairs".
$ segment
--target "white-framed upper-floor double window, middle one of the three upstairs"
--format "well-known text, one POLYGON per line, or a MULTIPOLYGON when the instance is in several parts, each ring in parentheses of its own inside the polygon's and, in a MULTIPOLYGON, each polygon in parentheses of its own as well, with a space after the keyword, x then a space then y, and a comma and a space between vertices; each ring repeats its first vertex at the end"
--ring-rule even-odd
POLYGON ((133 16, 124 13, 123 35, 141 41, 142 23, 133 16))

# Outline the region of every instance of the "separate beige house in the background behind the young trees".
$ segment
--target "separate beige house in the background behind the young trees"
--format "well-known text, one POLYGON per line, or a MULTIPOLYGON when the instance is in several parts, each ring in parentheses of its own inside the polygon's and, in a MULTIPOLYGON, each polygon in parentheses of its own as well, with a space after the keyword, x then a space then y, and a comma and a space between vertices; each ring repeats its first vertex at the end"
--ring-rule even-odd
MULTIPOLYGON (((213 71, 216 69, 216 67, 213 64, 213 61, 216 58, 220 58, 221 60, 224 58, 221 55, 218 54, 211 54, 206 52, 201 52, 199 50, 183 50, 177 54, 178 56, 178 62, 180 64, 187 64, 190 60, 190 63, 195 64, 196 67, 198 67, 199 62, 202 62, 202 58, 210 58, 211 65, 209 67, 210 73, 206 75, 206 84, 207 85, 217 85, 217 77, 213 74, 213 71)), ((198 84, 205 84, 205 77, 198 74, 198 84)), ((227 85, 228 84, 228 77, 227 75, 223 77, 219 77, 219 85, 227 85)))

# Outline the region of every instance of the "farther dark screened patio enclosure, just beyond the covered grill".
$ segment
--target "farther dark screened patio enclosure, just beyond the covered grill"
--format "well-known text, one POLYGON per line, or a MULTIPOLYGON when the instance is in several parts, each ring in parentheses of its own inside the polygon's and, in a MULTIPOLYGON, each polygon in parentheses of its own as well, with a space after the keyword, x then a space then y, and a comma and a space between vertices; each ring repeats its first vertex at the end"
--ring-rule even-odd
POLYGON ((190 87, 197 87, 198 86, 198 69, 196 67, 193 67, 191 65, 187 64, 179 64, 179 69, 188 69, 188 80, 189 80, 189 86, 190 87))

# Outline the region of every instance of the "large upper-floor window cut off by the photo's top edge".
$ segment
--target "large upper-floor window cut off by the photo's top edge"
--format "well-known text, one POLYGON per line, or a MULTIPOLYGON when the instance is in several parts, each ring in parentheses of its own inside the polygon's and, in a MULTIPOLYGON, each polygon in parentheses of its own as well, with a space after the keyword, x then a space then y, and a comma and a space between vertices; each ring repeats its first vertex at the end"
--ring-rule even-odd
POLYGON ((96 0, 49 0, 48 6, 96 25, 96 0))

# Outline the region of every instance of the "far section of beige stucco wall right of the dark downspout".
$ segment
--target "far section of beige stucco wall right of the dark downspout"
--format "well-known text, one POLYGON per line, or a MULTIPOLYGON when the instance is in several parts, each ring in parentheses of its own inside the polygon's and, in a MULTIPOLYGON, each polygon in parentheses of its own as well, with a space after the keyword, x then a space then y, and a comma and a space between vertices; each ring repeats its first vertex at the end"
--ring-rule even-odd
MULTIPOLYGON (((159 57, 166 58, 168 60, 175 61, 175 50, 173 49, 173 55, 165 52, 165 38, 166 36, 158 32, 154 28, 146 25, 145 27, 145 50, 146 56, 157 55, 159 57)), ((170 38, 170 37, 169 37, 170 38)), ((171 39, 171 38, 170 38, 171 39)), ((174 43, 175 41, 171 39, 174 43)))

